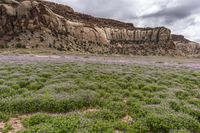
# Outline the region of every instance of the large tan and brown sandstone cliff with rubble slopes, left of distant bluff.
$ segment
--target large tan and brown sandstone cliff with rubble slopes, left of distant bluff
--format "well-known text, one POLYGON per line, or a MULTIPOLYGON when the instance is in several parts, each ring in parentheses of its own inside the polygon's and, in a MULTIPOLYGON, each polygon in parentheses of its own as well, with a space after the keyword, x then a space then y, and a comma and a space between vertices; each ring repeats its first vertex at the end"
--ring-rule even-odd
POLYGON ((176 50, 171 31, 165 27, 137 28, 33 0, 0 4, 0 47, 137 55, 174 54, 176 50))

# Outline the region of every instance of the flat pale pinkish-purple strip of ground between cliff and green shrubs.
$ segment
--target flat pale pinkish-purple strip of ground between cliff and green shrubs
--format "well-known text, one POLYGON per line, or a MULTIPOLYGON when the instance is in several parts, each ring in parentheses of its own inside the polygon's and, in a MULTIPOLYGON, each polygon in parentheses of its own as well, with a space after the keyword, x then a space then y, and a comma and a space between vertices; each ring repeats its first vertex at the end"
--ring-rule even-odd
POLYGON ((166 66, 174 68, 192 68, 200 70, 199 58, 181 58, 181 57, 151 57, 151 56, 41 56, 41 55, 17 55, 5 56, 0 55, 0 63, 16 62, 83 62, 83 63, 99 63, 99 64, 120 64, 120 65, 152 65, 166 66))

